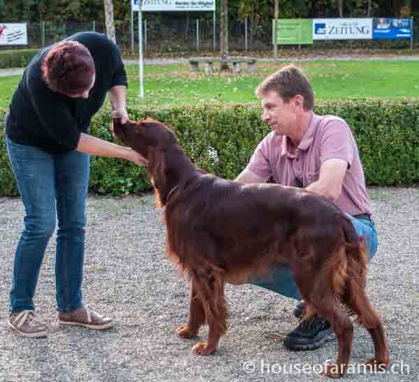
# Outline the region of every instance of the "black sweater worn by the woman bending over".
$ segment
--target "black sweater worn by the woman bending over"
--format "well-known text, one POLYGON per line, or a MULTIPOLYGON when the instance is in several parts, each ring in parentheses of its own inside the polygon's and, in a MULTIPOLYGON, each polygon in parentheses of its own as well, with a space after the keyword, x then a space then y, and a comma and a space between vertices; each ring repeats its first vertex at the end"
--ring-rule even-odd
POLYGON ((6 119, 10 140, 50 154, 75 149, 80 133, 89 132, 91 117, 103 105, 108 90, 117 85, 127 86, 119 49, 105 35, 81 32, 66 41, 78 41, 94 59, 96 81, 89 98, 71 98, 47 87, 41 73, 43 57, 51 49, 46 47, 25 69, 6 119))

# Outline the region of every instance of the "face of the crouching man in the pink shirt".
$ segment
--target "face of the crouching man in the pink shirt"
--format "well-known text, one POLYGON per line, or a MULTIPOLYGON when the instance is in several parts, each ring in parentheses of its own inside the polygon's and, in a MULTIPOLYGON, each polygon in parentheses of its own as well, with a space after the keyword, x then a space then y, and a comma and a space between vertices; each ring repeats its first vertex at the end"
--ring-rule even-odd
POLYGON ((277 91, 267 91, 262 95, 263 122, 267 123, 272 131, 281 135, 289 135, 297 123, 298 106, 302 99, 295 96, 286 103, 277 91))

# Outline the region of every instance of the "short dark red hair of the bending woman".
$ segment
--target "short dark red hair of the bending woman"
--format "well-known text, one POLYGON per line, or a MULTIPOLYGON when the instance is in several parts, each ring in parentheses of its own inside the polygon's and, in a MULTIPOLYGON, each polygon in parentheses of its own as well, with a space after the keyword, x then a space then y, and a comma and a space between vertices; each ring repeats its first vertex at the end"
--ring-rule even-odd
POLYGON ((43 59, 42 75, 50 89, 61 94, 78 94, 89 89, 95 73, 89 50, 77 41, 52 47, 43 59))

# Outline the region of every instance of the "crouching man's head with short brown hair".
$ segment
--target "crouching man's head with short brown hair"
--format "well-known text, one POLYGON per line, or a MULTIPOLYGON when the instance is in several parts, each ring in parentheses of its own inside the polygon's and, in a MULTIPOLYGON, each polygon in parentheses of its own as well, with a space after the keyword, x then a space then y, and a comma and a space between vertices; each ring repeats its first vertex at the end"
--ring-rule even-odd
POLYGON ((314 107, 309 80, 293 65, 281 68, 261 82, 256 96, 262 98, 263 122, 284 135, 293 135, 304 115, 311 113, 314 107))

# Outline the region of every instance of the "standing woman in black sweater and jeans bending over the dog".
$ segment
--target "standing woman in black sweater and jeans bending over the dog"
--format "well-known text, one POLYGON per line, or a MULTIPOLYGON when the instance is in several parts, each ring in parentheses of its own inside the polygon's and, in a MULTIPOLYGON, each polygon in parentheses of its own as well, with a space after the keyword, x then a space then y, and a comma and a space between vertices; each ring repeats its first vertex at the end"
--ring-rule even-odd
POLYGON ((112 319, 82 301, 84 226, 89 154, 145 159, 128 147, 89 135, 91 117, 106 94, 112 117, 128 120, 126 73, 118 47, 106 36, 75 34, 46 47, 27 66, 6 119, 6 146, 24 204, 24 229, 15 252, 9 325, 26 337, 45 337, 34 293, 45 247, 56 226, 59 323, 102 330, 112 319))

